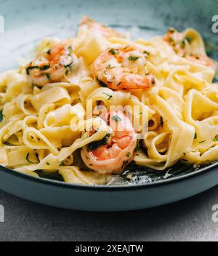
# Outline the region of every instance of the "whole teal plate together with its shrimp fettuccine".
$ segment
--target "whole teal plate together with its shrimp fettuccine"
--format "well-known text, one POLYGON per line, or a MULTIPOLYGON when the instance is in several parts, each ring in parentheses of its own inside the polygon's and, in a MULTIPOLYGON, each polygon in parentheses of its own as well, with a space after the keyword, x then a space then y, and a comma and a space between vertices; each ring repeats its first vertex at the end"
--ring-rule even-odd
POLYGON ((171 4, 160 25, 158 1, 128 2, 0 2, 2 190, 55 207, 117 211, 217 185, 217 38, 191 17, 183 28, 191 3, 177 19, 169 13, 181 1, 171 4))

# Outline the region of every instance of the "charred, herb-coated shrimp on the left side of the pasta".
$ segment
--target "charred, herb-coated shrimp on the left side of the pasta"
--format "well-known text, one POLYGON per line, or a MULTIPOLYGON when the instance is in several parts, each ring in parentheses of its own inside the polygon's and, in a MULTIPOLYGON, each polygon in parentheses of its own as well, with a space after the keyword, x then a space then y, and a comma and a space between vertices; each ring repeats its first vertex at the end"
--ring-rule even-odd
POLYGON ((70 42, 61 42, 47 52, 40 52, 36 60, 25 67, 28 81, 36 86, 61 81, 72 71, 76 60, 70 42))

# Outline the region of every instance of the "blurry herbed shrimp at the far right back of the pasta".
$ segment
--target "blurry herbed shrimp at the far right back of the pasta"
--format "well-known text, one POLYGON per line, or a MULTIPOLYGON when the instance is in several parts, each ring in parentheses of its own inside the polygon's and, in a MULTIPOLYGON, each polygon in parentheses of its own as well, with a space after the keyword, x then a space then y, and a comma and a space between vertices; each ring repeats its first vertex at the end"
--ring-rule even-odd
POLYGON ((182 33, 179 33, 174 28, 170 28, 163 39, 174 49, 177 55, 186 57, 187 60, 191 60, 195 63, 206 65, 209 68, 217 69, 216 63, 206 55, 196 55, 190 51, 190 39, 184 37, 182 33))

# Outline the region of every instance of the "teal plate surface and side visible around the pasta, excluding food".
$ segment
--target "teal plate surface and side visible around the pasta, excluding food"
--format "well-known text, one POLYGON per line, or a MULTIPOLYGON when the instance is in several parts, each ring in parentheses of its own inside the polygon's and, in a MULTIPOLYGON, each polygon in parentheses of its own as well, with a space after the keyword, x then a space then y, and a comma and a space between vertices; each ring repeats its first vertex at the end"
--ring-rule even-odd
MULTIPOLYGON (((144 38, 163 34, 170 26, 178 30, 192 27, 203 35, 209 55, 218 60, 218 36, 211 31, 217 11, 216 0, 2 0, 5 33, 0 34, 0 72, 16 68, 15 58, 25 57, 45 36, 72 36, 82 15, 144 38)), ((200 169, 176 164, 166 172, 132 166, 115 184, 105 186, 70 185, 62 183, 58 175, 40 175, 35 178, 0 167, 0 188, 23 199, 68 209, 142 209, 185 199, 217 185, 218 163, 200 169), (129 174, 132 180, 128 180, 129 174)))

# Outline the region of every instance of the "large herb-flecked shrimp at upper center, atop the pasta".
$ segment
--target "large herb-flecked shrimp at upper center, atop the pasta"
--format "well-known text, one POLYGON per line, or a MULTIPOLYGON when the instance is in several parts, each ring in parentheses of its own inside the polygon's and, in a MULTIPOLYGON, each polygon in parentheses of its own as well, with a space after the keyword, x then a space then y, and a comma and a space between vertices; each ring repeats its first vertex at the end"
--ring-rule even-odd
POLYGON ((134 47, 108 49, 94 60, 94 73, 102 87, 110 89, 149 89, 155 83, 146 71, 148 52, 134 47))

